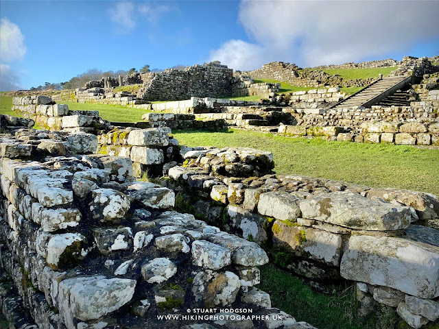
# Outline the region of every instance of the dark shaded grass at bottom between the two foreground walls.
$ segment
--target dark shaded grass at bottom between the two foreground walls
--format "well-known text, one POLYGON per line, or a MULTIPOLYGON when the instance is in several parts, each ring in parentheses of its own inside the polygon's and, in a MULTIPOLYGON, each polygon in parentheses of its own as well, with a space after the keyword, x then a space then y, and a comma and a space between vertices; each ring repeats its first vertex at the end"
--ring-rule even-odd
POLYGON ((333 295, 324 295, 271 264, 261 267, 259 289, 270 293, 272 307, 319 329, 393 329, 398 321, 393 310, 361 324, 353 287, 334 287, 333 295))

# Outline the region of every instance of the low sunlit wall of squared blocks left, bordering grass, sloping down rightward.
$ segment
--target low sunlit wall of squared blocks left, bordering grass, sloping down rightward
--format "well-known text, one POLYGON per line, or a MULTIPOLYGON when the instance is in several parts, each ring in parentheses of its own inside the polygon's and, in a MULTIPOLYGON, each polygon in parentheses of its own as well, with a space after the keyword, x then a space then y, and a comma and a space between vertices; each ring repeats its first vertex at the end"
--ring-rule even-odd
POLYGON ((66 104, 57 104, 47 96, 14 97, 12 104, 12 110, 49 130, 97 133, 110 129, 98 111, 72 111, 66 104))

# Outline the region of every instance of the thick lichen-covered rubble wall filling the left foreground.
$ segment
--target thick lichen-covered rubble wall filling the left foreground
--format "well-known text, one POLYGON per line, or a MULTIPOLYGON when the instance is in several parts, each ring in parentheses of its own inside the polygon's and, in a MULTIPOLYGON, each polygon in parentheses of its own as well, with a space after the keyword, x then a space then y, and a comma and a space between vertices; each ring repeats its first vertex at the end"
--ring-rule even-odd
MULTIPOLYGON (((127 141, 159 149, 162 133, 132 130, 127 141)), ((135 182, 130 158, 83 155, 76 142, 66 154, 36 152, 51 134, 0 137, 0 304, 10 328, 313 328, 254 287, 268 263, 257 243, 174 211, 174 191, 135 182), (216 313, 193 319, 195 308, 216 313)))

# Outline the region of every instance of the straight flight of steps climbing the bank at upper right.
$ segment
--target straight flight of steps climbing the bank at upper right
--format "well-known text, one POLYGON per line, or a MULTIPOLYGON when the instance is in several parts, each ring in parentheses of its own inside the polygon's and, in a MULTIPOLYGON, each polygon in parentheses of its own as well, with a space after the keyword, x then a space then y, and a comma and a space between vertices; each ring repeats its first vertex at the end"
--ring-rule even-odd
POLYGON ((332 108, 353 108, 354 106, 363 106, 370 108, 390 95, 394 95, 397 90, 407 86, 412 81, 411 76, 384 77, 381 80, 373 82, 359 92, 336 103, 332 108))

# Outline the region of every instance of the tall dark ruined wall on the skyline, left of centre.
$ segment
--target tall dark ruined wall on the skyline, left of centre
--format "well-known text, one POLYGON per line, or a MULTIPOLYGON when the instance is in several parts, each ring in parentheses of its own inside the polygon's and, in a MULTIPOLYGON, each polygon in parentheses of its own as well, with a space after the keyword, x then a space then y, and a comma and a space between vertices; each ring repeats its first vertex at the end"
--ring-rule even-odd
POLYGON ((149 101, 230 97, 232 76, 232 69, 215 63, 188 66, 185 71, 168 69, 161 73, 143 73, 143 88, 137 96, 149 101))

